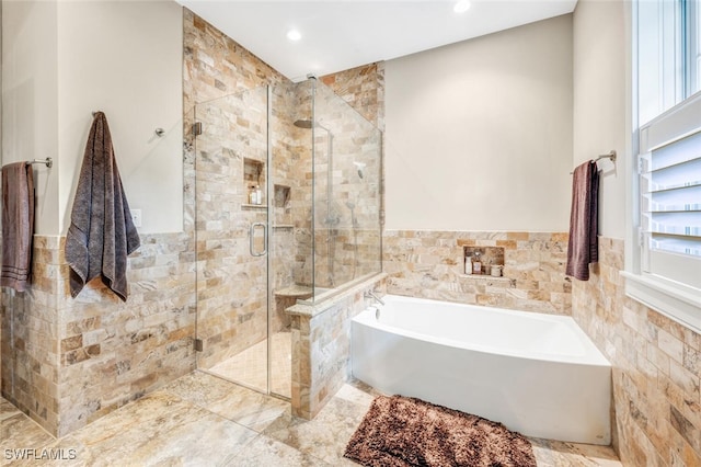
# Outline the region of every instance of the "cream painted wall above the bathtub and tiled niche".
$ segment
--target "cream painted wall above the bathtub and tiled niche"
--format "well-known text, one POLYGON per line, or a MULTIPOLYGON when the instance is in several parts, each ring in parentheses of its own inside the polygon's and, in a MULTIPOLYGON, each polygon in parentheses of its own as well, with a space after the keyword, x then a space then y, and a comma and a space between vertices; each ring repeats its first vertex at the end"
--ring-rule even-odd
POLYGON ((386 64, 387 229, 567 230, 572 15, 386 64))

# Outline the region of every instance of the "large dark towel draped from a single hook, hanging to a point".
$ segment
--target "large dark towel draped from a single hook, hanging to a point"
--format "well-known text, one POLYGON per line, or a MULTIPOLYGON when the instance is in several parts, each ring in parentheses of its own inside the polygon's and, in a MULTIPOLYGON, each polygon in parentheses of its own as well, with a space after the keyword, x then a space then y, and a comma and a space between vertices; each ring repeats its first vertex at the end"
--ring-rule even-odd
POLYGON ((66 236, 66 261, 71 267, 70 295, 101 276, 122 300, 127 299, 127 255, 139 248, 107 118, 95 113, 66 236))

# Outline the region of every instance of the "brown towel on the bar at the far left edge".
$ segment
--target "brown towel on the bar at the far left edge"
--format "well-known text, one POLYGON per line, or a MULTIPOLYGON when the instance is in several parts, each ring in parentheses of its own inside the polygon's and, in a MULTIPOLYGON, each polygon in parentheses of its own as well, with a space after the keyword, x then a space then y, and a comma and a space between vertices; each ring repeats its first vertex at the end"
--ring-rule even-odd
POLYGON ((2 273, 0 284, 24 292, 32 270, 34 172, 26 162, 2 168, 2 273))

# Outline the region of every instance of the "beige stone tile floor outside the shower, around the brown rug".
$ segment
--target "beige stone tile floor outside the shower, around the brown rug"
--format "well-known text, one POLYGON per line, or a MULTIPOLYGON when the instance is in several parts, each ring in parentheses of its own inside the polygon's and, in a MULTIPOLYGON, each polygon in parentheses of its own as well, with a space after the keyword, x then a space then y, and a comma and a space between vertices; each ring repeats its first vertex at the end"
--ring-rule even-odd
MULTIPOLYGON (((194 372, 58 440, 0 399, 0 465, 353 466, 343 452, 375 395, 346 384, 304 421, 280 399, 194 372), (72 459, 18 460, 26 449, 72 459)), ((621 466, 608 447, 531 442, 539 466, 621 466)))

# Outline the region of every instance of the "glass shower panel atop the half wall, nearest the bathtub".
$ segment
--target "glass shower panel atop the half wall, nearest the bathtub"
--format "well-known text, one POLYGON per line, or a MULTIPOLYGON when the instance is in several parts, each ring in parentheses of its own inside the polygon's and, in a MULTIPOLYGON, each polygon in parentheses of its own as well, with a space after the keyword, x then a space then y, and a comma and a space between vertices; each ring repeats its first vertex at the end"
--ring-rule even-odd
POLYGON ((381 271, 381 132, 327 87, 314 95, 314 299, 381 271))

